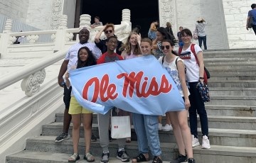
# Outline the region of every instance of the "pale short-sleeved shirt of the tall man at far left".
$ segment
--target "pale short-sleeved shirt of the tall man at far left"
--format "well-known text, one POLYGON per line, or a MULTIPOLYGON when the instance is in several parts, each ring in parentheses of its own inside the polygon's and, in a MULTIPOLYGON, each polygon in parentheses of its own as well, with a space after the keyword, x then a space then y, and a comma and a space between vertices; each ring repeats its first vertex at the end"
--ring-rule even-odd
POLYGON ((96 59, 99 59, 99 57, 102 55, 100 49, 95 45, 95 43, 84 43, 84 44, 76 43, 75 45, 72 45, 70 47, 64 59, 64 60, 69 60, 68 70, 70 70, 72 66, 75 66, 77 64, 78 50, 84 46, 88 47, 92 51, 92 54, 95 56, 96 59))

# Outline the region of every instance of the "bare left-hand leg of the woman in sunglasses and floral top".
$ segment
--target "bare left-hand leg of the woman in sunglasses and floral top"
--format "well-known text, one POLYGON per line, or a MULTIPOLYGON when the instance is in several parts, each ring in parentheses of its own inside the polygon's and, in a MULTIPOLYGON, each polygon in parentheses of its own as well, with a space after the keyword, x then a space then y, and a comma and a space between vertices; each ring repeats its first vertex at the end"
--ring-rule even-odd
POLYGON ((182 154, 183 156, 186 155, 186 152, 185 152, 185 145, 184 145, 184 142, 183 142, 183 139, 182 139, 182 134, 181 134, 181 128, 179 126, 179 123, 178 123, 178 115, 176 113, 176 111, 174 112, 169 112, 169 116, 171 117, 171 125, 173 127, 173 130, 174 130, 174 137, 175 137, 175 140, 177 142, 177 145, 178 145, 178 152, 180 154, 182 154))

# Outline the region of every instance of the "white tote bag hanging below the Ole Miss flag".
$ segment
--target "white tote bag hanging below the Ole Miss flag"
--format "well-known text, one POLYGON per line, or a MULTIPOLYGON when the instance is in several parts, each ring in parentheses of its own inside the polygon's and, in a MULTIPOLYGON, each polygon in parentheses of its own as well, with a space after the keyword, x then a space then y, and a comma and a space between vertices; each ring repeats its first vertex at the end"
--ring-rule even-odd
POLYGON ((129 116, 111 116, 111 137, 114 139, 131 137, 129 116))

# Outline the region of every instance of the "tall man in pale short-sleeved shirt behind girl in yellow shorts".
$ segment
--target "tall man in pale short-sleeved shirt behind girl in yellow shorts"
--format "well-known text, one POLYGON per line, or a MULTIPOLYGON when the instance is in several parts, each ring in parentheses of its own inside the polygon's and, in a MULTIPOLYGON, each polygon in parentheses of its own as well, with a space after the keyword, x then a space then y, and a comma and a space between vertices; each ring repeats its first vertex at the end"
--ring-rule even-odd
MULTIPOLYGON (((65 103, 65 111, 64 111, 64 120, 63 120, 63 132, 56 137, 55 142, 61 142, 63 140, 67 140, 70 135, 68 135, 68 129, 70 127, 71 115, 68 113, 68 108, 70 106, 70 95, 72 87, 70 89, 65 85, 65 81, 63 79, 63 75, 67 70, 70 70, 70 67, 73 67, 78 61, 78 50, 80 47, 88 47, 96 59, 98 59, 102 54, 100 49, 95 45, 95 43, 88 43, 88 39, 90 37, 89 30, 87 28, 82 28, 79 32, 79 43, 72 45, 68 50, 67 55, 61 64, 60 72, 58 74, 58 84, 64 88, 64 96, 63 101, 65 103)), ((97 138, 92 134, 92 141, 96 141, 97 138)))

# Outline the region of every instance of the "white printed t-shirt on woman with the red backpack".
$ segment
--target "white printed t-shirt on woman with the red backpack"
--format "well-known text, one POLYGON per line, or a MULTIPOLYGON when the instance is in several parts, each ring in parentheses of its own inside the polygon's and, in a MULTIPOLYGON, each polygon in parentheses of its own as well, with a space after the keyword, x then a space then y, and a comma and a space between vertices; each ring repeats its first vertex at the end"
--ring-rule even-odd
MULTIPOLYGON (((193 55, 193 52, 191 52, 191 45, 187 50, 181 51, 180 57, 186 65, 186 79, 188 82, 196 82, 199 80, 199 66, 196 63, 196 57, 193 55)), ((196 55, 198 52, 202 52, 201 47, 195 45, 195 52, 196 55)))

